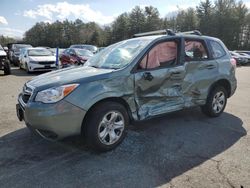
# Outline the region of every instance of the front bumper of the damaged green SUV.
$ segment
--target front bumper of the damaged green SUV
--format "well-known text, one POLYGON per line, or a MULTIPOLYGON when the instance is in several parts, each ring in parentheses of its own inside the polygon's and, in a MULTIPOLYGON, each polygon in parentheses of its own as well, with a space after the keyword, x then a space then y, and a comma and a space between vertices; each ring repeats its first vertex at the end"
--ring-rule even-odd
POLYGON ((67 101, 54 104, 22 101, 18 98, 17 116, 24 120, 32 131, 49 140, 81 134, 82 121, 86 112, 67 101))

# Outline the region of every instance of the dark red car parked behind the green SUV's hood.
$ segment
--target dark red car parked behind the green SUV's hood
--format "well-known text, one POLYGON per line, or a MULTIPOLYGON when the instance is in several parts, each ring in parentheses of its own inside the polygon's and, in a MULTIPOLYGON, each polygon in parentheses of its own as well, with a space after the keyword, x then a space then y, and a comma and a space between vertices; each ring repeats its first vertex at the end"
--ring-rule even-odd
POLYGON ((68 48, 60 55, 61 66, 64 68, 72 65, 83 65, 93 55, 89 50, 68 48))

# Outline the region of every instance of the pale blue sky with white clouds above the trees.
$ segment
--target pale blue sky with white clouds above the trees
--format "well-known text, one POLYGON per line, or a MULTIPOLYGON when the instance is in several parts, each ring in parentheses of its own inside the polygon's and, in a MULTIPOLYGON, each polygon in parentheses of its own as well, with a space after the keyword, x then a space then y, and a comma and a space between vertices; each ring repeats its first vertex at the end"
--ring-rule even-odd
MULTIPOLYGON (((250 8, 250 0, 243 0, 250 8)), ((110 24, 121 13, 135 6, 156 7, 161 17, 188 7, 196 7, 200 0, 0 0, 0 35, 22 38, 36 22, 56 20, 95 21, 110 24)))

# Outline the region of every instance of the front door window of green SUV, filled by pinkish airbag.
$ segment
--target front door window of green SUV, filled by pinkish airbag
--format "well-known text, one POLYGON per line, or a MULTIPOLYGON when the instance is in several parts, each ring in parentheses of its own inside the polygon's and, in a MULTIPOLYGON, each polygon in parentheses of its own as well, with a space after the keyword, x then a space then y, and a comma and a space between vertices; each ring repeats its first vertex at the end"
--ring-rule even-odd
POLYGON ((153 69, 161 66, 176 64, 177 43, 174 41, 163 42, 153 47, 142 59, 140 68, 153 69))

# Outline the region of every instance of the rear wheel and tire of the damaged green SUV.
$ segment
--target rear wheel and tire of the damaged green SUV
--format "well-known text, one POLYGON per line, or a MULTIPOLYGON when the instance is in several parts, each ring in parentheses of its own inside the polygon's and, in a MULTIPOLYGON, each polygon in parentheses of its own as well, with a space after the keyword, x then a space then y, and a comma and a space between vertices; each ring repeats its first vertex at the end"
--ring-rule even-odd
POLYGON ((201 106, 201 111, 209 117, 218 117, 227 104, 227 92, 224 87, 217 86, 209 94, 207 102, 201 106))

